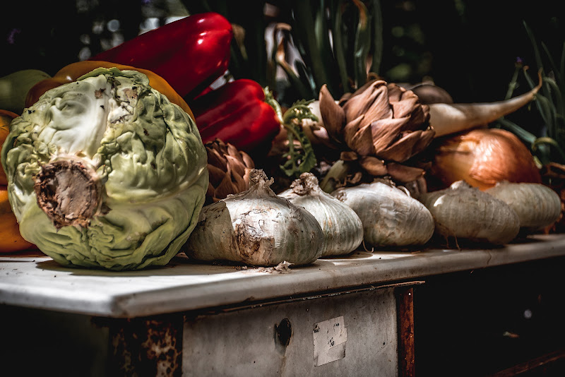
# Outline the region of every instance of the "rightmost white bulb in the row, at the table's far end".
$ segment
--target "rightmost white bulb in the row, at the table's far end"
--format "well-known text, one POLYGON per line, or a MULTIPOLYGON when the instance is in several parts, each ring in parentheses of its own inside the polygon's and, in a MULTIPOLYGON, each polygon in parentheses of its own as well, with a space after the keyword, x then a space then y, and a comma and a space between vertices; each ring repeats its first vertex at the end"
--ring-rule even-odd
POLYGON ((526 231, 534 232, 552 225, 561 215, 559 195, 544 184, 501 181, 484 192, 516 211, 520 227, 526 231))

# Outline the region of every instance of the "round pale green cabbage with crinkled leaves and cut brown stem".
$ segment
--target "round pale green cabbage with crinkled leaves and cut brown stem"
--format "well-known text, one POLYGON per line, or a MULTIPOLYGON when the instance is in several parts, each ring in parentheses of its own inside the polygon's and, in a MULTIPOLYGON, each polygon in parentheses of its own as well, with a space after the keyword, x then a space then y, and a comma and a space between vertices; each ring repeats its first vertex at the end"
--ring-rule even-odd
POLYGON ((208 187, 194 120, 137 71, 97 68, 14 119, 1 151, 23 238, 58 263, 165 265, 208 187))

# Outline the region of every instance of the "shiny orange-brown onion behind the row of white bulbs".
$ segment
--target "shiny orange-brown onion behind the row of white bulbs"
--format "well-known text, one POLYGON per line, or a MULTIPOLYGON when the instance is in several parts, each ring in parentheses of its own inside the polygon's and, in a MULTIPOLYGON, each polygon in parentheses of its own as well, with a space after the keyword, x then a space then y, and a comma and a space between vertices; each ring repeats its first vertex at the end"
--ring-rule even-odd
POLYGON ((500 128, 476 128, 438 139, 427 174, 431 190, 464 180, 480 190, 496 182, 541 183, 540 169, 520 139, 500 128))

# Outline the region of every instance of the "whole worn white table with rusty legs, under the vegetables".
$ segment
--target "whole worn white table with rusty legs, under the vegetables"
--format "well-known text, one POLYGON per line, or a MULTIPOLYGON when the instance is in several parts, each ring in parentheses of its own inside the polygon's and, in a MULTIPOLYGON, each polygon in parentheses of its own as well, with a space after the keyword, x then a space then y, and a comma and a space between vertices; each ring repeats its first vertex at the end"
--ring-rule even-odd
MULTIPOLYGON (((565 235, 497 249, 358 251, 280 270, 177 256, 162 268, 115 273, 24 253, 0 256, 0 318, 20 347, 42 349, 37 368, 59 376, 374 376, 375 368, 397 376, 413 371, 414 285, 561 256, 565 235), (54 335, 64 348, 42 348, 54 335), (61 357, 78 361, 61 365, 61 357)), ((0 352, 17 358, 11 347, 0 352)))

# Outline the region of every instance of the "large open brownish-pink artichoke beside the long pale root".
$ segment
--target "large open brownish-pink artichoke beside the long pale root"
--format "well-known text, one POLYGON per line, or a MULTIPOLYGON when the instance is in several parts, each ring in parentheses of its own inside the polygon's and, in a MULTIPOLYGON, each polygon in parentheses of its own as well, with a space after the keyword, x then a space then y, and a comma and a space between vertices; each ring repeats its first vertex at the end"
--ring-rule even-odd
POLYGON ((434 130, 429 106, 411 90, 375 79, 335 102, 323 85, 319 107, 340 160, 358 162, 370 176, 391 176, 402 183, 424 174, 408 161, 432 143, 434 130))

